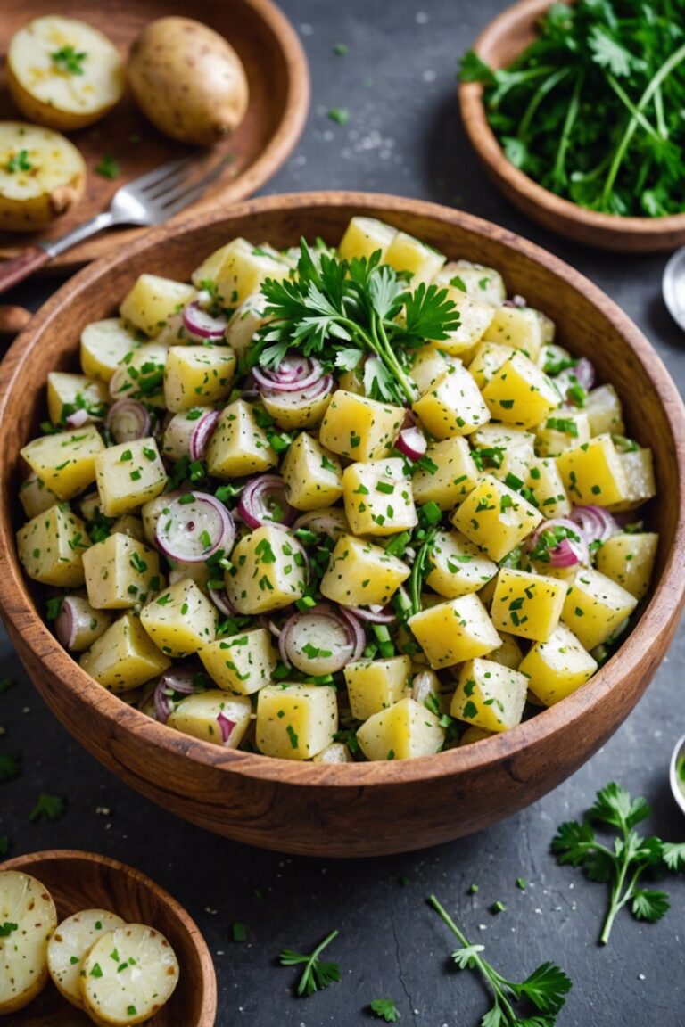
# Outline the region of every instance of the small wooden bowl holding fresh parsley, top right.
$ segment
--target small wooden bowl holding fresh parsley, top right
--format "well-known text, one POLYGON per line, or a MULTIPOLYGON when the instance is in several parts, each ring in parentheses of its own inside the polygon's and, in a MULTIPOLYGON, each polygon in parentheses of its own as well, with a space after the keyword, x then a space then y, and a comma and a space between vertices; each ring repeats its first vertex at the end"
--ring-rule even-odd
MULTIPOLYGON (((504 68, 533 41, 538 18, 550 0, 521 0, 498 14, 474 43, 479 56, 504 68)), ((533 221, 576 242, 620 253, 675 250, 685 242, 685 214, 664 218, 621 218, 587 211, 543 189, 506 159, 486 116, 483 85, 459 86, 461 117, 468 138, 490 177, 511 202, 533 221)))

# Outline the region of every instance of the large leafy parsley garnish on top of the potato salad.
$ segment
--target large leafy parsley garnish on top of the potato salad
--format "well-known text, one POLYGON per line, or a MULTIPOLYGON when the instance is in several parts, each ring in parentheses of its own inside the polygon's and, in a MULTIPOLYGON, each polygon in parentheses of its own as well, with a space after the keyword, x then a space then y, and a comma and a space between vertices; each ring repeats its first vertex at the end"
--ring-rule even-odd
POLYGON ((459 313, 447 290, 421 282, 410 291, 380 257, 380 251, 349 262, 325 251, 314 257, 302 239, 297 277, 262 284, 272 319, 251 359, 277 368, 295 348, 327 370, 353 371, 364 362, 367 395, 413 403, 418 393, 407 370, 410 351, 426 340, 447 339, 459 313))

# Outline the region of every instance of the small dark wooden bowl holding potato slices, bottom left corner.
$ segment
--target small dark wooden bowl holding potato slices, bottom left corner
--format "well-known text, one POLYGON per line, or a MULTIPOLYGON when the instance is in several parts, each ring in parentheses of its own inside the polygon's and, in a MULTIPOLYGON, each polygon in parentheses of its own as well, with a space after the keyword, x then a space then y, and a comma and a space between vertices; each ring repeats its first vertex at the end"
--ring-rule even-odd
MULTIPOLYGON (((197 924, 176 899, 145 874, 94 852, 49 849, 17 855, 0 871, 32 874, 54 900, 63 920, 82 909, 107 909, 127 923, 147 923, 161 931, 181 967, 179 984, 150 1027, 214 1027, 217 978, 197 924)), ((2 1018, 3 1027, 92 1027, 85 1013, 70 1005, 48 981, 35 1001, 2 1018)))

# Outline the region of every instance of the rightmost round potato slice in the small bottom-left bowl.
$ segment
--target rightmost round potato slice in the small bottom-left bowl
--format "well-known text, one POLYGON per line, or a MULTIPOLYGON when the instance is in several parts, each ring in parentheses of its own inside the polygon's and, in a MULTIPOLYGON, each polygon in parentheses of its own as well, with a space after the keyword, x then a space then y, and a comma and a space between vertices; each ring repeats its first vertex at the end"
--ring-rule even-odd
POLYGON ((108 930, 83 960, 81 995, 97 1024, 134 1027, 174 993, 179 961, 163 935, 142 923, 108 930))

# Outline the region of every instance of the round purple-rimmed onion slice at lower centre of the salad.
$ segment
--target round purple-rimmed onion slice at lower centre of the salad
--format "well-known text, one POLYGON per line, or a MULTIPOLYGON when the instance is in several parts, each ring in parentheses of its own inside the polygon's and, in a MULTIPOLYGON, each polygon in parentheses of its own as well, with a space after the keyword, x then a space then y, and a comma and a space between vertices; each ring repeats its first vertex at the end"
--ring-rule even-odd
POLYGON ((358 659, 365 645, 364 629, 356 618, 327 603, 293 614, 278 639, 283 662, 316 677, 335 674, 358 659))

